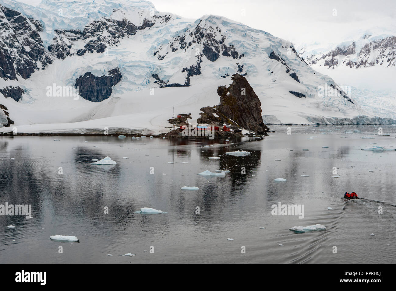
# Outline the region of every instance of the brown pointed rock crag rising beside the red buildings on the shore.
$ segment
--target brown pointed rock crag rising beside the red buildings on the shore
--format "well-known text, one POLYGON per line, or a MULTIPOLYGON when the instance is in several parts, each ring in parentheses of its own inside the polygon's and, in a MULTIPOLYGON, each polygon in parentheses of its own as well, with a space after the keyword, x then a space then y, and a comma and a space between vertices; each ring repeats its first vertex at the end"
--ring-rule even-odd
POLYGON ((253 88, 244 76, 233 74, 234 81, 227 88, 220 86, 217 94, 220 96, 220 104, 215 107, 201 108, 201 118, 198 123, 228 123, 232 126, 243 127, 259 134, 267 135, 269 131, 261 117, 261 102, 253 88), (215 116, 217 114, 219 117, 215 116))

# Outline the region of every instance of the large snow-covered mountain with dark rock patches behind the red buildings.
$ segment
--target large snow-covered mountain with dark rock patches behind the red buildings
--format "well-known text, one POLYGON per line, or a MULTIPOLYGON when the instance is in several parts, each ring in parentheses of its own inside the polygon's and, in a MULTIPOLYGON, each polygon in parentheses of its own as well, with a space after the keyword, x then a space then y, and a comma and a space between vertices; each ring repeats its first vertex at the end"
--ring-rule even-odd
POLYGON ((196 121, 236 72, 268 123, 392 122, 373 119, 291 42, 225 17, 129 0, 0 5, 0 121, 20 133, 165 132, 173 107, 196 121))

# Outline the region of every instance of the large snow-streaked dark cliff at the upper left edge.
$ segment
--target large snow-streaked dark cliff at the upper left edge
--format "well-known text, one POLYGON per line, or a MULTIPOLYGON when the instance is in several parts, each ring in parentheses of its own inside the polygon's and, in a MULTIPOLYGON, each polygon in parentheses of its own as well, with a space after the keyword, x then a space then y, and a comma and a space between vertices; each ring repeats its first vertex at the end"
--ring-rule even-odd
POLYGON ((0 77, 24 79, 46 68, 52 59, 44 48, 41 24, 0 5, 0 77))

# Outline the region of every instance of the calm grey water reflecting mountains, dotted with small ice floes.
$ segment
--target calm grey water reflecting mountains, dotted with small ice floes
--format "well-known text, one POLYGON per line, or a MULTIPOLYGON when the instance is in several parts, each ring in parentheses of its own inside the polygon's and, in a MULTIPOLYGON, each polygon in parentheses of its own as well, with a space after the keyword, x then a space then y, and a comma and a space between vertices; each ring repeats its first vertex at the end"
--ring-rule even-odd
POLYGON ((396 146, 396 128, 382 127, 390 136, 377 135, 378 126, 291 126, 291 135, 287 126, 271 126, 276 133, 261 141, 0 137, 0 204, 32 205, 31 219, 0 216, 1 262, 392 263, 396 151, 360 150, 369 143, 396 146), (251 155, 225 155, 234 150, 251 155), (90 164, 105 156, 118 164, 90 164), (333 167, 341 177, 332 178, 333 167), (230 173, 197 175, 217 169, 230 173), (344 202, 345 191, 384 203, 344 202), (279 202, 303 204, 305 217, 272 215, 271 205, 279 202), (141 207, 168 213, 134 213, 141 207), (326 230, 289 230, 318 223, 326 230), (77 236, 80 243, 49 240, 55 234, 77 236), (126 253, 136 255, 119 256, 126 253))

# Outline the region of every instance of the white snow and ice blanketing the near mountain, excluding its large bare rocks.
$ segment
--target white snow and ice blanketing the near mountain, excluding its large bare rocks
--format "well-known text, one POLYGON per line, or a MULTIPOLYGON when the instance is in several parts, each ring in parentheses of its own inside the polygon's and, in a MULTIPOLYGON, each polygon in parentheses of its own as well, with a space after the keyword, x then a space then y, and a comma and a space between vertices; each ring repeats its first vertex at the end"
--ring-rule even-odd
MULTIPOLYGON (((318 120, 326 123, 323 117, 369 115, 344 97, 320 97, 318 86, 335 82, 290 51, 291 42, 225 17, 204 15, 196 20, 185 19, 158 12, 147 1, 96 0, 88 4, 85 1, 44 0, 33 7, 13 0, 0 0, 0 4, 41 20, 44 31, 39 34, 46 48, 52 43, 56 29, 82 30, 90 21, 102 17, 127 19, 137 26, 142 25, 145 18, 155 22, 152 27, 120 38, 116 46, 108 44, 106 53, 74 54, 63 60, 53 57, 51 65, 34 72, 28 79, 0 80, 0 87, 20 86, 25 91, 19 102, 0 94, 0 104, 8 108, 10 118, 15 122, 14 126, 0 128, 3 132, 17 127, 18 133, 82 134, 103 133, 107 128, 109 134, 158 134, 169 131, 167 120, 172 117, 173 107, 177 113, 191 113, 190 122, 196 125, 200 108, 219 103, 217 87, 230 84, 231 75, 241 69, 238 67, 241 65, 240 74, 247 74, 249 84, 261 100, 265 122, 313 124, 318 120), (65 16, 58 15, 59 9, 63 9, 65 16), (165 15, 168 15, 167 21, 158 21, 165 15), (204 38, 200 43, 192 42, 198 32, 202 32, 204 38), (209 35, 209 39, 205 38, 209 35), (204 44, 211 40, 220 42, 223 37, 224 44, 233 46, 238 58, 223 55, 220 51, 219 58, 210 61, 202 53, 204 44), (180 48, 181 38, 192 44, 180 48), (280 61, 269 57, 272 51, 281 58, 280 61), (158 55, 164 57, 158 58, 158 55), (198 62, 199 59, 202 62, 198 62), (169 84, 184 84, 186 68, 197 62, 201 73, 189 77, 191 86, 160 88, 154 83, 152 74, 169 84), (94 103, 82 97, 77 100, 48 97, 46 94, 47 86, 52 84, 74 86, 76 78, 86 72, 102 76, 116 67, 120 68, 121 81, 112 87, 110 98, 102 102, 94 103), (289 76, 291 73, 297 74, 299 82, 289 76), (289 91, 306 97, 296 97, 289 91)), ((107 33, 105 30, 95 37, 107 37, 107 33)), ((89 40, 72 42, 70 53, 84 48, 89 40)))

